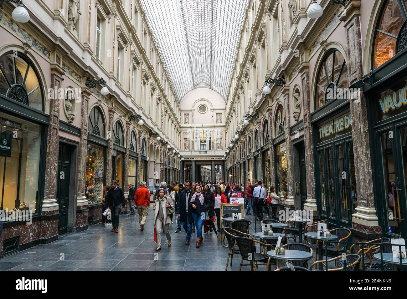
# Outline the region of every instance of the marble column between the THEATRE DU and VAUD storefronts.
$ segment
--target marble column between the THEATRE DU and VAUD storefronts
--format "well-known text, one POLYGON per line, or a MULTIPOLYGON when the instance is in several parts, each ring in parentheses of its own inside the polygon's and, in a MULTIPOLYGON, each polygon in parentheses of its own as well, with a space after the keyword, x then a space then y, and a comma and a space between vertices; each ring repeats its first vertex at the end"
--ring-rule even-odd
MULTIPOLYGON (((360 26, 360 0, 346 4, 341 16, 346 31, 346 56, 348 57, 349 85, 363 77, 362 38, 360 26)), ((352 228, 365 234, 381 233, 376 209, 374 207, 372 161, 370 157, 370 135, 368 111, 364 94, 350 99, 350 117, 352 120, 352 139, 354 151, 354 170, 357 188, 357 207, 352 215, 352 228)))

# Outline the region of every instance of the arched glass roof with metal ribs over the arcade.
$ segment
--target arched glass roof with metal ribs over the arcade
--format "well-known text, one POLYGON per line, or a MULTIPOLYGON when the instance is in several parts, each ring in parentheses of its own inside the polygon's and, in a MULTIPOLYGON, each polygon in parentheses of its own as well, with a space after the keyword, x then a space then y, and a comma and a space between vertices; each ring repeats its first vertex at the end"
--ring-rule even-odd
POLYGON ((228 94, 248 0, 141 0, 178 101, 206 85, 228 94))

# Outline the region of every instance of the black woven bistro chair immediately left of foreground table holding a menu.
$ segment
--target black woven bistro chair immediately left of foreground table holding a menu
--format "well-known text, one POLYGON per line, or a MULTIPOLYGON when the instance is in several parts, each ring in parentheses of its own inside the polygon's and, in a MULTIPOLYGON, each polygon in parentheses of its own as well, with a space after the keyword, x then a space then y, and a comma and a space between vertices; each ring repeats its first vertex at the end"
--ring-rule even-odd
MULTIPOLYGON (((242 260, 240 262, 240 267, 239 271, 241 271, 242 266, 247 266, 247 264, 243 264, 243 261, 248 261, 250 264, 250 268, 252 271, 256 271, 256 266, 258 266, 259 262, 262 263, 260 265, 270 265, 271 263, 269 262, 271 258, 269 258, 266 255, 267 248, 269 250, 273 250, 274 247, 270 244, 265 244, 263 242, 250 239, 250 238, 244 238, 244 237, 236 237, 236 244, 237 247, 239 248, 239 252, 242 256, 242 260), (264 248, 264 250, 260 253, 256 252, 256 243, 260 244, 261 247, 264 248)), ((274 259, 273 259, 274 260, 274 259)), ((275 264, 275 260, 274 260, 275 264)), ((267 271, 269 271, 269 267, 267 267, 267 271)))

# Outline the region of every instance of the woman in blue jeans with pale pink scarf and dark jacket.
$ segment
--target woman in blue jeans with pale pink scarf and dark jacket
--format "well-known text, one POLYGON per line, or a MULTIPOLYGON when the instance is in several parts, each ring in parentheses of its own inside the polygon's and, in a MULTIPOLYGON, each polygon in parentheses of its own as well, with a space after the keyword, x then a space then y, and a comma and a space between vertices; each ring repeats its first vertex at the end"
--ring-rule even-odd
POLYGON ((204 240, 204 238, 202 238, 202 225, 205 221, 205 212, 208 209, 209 202, 202 194, 202 187, 197 185, 188 203, 188 221, 191 224, 195 223, 197 227, 197 248, 199 248, 199 244, 204 240))

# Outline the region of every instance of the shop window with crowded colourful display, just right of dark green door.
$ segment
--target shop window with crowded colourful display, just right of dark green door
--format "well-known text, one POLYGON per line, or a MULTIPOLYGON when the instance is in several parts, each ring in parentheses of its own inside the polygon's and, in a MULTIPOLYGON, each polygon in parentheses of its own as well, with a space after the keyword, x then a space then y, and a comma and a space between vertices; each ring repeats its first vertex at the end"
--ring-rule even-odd
POLYGON ((88 143, 86 160, 85 196, 88 204, 101 203, 103 198, 103 174, 105 168, 105 148, 88 143))

